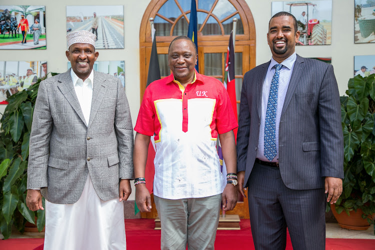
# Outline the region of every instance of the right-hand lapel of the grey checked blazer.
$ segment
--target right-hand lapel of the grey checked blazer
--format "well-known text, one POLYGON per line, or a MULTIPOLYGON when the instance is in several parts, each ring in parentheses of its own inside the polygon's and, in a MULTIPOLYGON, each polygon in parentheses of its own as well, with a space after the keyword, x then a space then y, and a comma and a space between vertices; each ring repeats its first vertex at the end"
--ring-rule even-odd
POLYGON ((92 120, 95 118, 96 112, 100 107, 100 103, 103 99, 106 89, 107 81, 101 74, 98 74, 96 71, 94 71, 94 78, 92 83, 91 111, 88 126, 92 123, 92 120))

